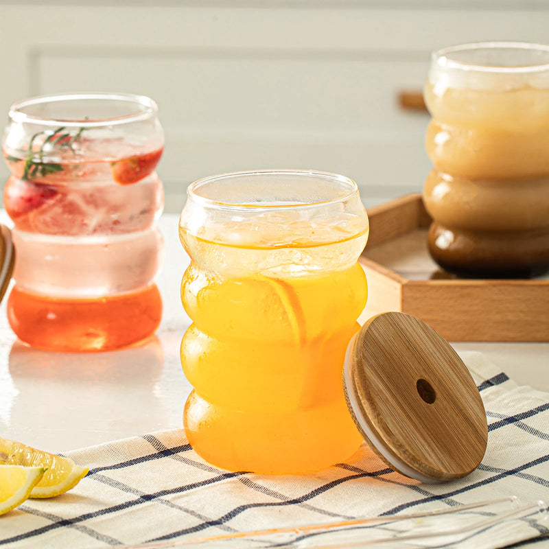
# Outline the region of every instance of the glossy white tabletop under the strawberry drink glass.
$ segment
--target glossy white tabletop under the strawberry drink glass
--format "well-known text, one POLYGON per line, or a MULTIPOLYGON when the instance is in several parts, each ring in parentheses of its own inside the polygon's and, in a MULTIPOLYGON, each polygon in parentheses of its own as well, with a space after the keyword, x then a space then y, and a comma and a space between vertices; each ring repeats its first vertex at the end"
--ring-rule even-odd
MULTIPOLYGON (((0 221, 10 224, 5 213, 0 221)), ((0 306, 0 436, 49 452, 64 452, 182 426, 191 390, 179 344, 190 324, 179 297, 188 264, 178 239, 178 216, 159 220, 166 260, 157 283, 163 320, 141 347, 104 353, 53 353, 25 346, 0 306)), ((8 290, 9 292, 9 290, 8 290)), ((7 294, 6 294, 7 296, 7 294)), ((519 384, 549 392, 549 343, 454 344, 480 351, 519 384)))

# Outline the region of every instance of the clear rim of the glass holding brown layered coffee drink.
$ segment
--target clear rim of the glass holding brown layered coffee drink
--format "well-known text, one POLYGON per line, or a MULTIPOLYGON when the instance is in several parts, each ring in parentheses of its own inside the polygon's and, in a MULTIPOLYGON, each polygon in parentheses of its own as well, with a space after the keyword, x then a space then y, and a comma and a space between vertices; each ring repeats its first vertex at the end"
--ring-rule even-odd
POLYGON ((479 65, 473 62, 458 61, 448 57, 449 54, 473 49, 515 49, 524 51, 541 51, 549 54, 549 45, 546 44, 513 41, 489 41, 471 42, 436 49, 431 54, 431 60, 438 67, 441 67, 441 69, 459 69, 462 71, 503 74, 538 73, 549 71, 549 62, 534 63, 533 65, 519 65, 517 67, 506 67, 504 65, 479 65))

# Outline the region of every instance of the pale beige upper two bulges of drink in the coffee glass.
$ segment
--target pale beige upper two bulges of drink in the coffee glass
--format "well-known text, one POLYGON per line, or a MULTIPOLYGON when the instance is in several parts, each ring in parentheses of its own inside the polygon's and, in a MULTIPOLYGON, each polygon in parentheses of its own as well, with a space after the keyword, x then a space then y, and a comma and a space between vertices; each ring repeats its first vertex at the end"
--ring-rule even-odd
POLYGON ((441 172, 467 178, 549 174, 549 89, 452 89, 427 82, 425 145, 441 172))

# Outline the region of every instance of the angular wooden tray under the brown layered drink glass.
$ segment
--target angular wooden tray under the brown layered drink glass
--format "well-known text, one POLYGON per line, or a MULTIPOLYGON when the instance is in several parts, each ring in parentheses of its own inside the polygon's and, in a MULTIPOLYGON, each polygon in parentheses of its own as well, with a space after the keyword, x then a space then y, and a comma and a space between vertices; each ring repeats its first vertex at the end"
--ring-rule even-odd
POLYGON ((549 279, 459 279, 427 249, 430 216, 420 194, 368 211, 360 258, 368 278, 361 320, 385 311, 417 318, 449 341, 549 341, 549 279))

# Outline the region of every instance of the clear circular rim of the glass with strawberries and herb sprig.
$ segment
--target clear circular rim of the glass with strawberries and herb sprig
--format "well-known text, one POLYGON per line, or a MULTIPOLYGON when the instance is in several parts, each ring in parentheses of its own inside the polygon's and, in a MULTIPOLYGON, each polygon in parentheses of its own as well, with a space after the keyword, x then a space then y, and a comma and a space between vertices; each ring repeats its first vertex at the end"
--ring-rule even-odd
POLYGON ((48 95, 36 95, 28 99, 18 101, 10 107, 9 117, 12 121, 21 124, 39 124, 41 126, 68 126, 76 128, 100 128, 102 126, 117 126, 119 124, 130 124, 132 122, 149 119, 158 112, 156 102, 146 95, 137 95, 134 93, 114 93, 114 92, 74 92, 74 93, 51 93, 48 95), (130 113, 128 115, 119 115, 115 117, 106 117, 100 119, 62 119, 46 118, 36 115, 30 115, 23 112, 23 108, 45 103, 55 103, 62 101, 78 100, 105 100, 113 102, 126 102, 143 106, 140 113, 130 113))

